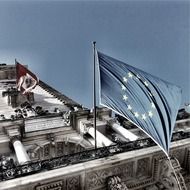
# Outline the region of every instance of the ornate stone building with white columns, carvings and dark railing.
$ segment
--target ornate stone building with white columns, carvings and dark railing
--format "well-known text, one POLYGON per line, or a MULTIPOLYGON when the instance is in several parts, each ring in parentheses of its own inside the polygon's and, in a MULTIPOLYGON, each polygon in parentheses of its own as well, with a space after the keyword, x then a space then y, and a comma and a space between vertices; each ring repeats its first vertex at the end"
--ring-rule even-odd
POLYGON ((171 162, 142 131, 106 108, 97 109, 96 134, 94 149, 91 110, 42 81, 26 97, 16 90, 15 66, 0 65, 0 189, 190 190, 185 110, 176 121, 171 162))

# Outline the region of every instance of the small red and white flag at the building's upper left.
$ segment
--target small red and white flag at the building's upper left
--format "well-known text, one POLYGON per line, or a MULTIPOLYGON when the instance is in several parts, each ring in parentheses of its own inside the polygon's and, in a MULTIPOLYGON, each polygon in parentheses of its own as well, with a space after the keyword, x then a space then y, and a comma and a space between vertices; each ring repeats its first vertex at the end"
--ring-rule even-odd
POLYGON ((35 74, 29 71, 22 64, 18 63, 16 60, 15 64, 17 77, 16 83, 18 90, 21 91, 23 94, 31 92, 32 89, 34 89, 36 85, 39 83, 39 79, 35 74))

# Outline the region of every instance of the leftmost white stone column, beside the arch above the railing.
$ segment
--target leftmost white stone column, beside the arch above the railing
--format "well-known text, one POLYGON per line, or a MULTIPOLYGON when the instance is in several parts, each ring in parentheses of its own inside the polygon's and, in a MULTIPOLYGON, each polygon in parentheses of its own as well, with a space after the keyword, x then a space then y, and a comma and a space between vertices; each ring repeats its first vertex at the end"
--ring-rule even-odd
POLYGON ((12 140, 12 144, 15 150, 15 154, 19 164, 25 164, 30 161, 30 158, 22 144, 22 142, 18 138, 14 138, 12 140))

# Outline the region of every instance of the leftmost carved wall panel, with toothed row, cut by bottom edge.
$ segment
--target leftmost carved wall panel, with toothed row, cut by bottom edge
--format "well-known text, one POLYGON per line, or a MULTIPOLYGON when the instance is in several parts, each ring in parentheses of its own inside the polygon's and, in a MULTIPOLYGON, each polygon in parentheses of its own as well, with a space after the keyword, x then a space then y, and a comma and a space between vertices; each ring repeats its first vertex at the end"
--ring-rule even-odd
POLYGON ((39 186, 35 187, 35 190, 63 190, 63 182, 62 181, 55 181, 52 183, 39 185, 39 186))

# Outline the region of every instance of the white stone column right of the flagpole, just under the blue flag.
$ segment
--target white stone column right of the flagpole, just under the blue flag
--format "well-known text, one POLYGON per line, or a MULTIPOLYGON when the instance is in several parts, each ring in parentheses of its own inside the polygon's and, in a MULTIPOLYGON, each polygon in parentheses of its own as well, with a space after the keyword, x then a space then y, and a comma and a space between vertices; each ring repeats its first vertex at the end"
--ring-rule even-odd
POLYGON ((124 127, 120 126, 117 123, 112 123, 111 128, 118 133, 119 135, 121 135, 122 137, 124 137, 125 139, 129 139, 130 141, 135 141, 138 139, 138 136, 134 135, 133 133, 131 133, 129 130, 125 129, 124 127))

